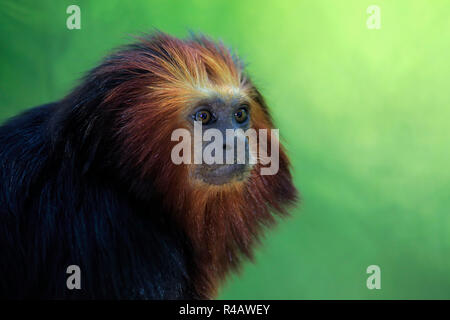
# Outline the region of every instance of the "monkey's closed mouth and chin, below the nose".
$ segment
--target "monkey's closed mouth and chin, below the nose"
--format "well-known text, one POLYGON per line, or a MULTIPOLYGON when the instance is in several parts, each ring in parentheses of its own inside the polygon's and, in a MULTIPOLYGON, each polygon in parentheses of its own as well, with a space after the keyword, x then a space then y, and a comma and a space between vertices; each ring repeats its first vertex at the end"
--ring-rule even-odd
POLYGON ((212 164, 202 165, 196 170, 196 176, 206 183, 221 185, 245 179, 248 171, 247 164, 212 164))

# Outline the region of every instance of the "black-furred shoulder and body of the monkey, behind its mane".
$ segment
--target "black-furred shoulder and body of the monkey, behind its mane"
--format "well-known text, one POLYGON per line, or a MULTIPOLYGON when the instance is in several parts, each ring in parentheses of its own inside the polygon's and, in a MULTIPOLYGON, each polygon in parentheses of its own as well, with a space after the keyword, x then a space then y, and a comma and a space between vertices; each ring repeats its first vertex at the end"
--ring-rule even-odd
POLYGON ((142 203, 118 181, 83 175, 70 154, 55 160, 57 107, 0 127, 0 297, 192 297, 186 241, 158 199, 142 203), (70 265, 80 267, 81 290, 66 288, 70 265))

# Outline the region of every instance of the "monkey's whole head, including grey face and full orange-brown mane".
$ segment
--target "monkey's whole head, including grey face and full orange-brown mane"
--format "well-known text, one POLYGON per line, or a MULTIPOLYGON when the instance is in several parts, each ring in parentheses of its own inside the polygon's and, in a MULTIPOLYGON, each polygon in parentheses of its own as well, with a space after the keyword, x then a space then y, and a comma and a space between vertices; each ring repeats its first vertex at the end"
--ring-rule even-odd
POLYGON ((107 133, 91 122, 82 131, 101 140, 90 145, 108 146, 103 153, 116 169, 111 175, 121 176, 139 199, 156 193, 186 233, 204 297, 241 257, 251 257, 263 227, 275 222, 272 213, 285 214, 296 200, 266 103, 221 43, 157 33, 107 58, 74 94, 77 105, 97 110, 95 117, 84 111, 91 119, 108 119, 107 133), (236 129, 256 136, 228 134, 236 129), (180 130, 192 138, 182 151, 180 130), (276 170, 262 174, 263 160, 274 152, 276 170), (196 161, 199 153, 216 161, 196 161))

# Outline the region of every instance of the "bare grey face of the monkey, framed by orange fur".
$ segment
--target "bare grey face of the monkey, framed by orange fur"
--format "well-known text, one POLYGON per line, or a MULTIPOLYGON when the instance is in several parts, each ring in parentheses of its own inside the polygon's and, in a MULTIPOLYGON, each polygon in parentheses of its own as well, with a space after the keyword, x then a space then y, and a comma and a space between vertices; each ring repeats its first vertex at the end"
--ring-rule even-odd
MULTIPOLYGON (((203 139, 197 140, 197 161, 191 177, 207 184, 222 185, 245 180, 252 165, 248 137, 243 135, 251 127, 251 108, 241 97, 220 95, 203 100, 192 108, 188 116, 195 139, 201 128, 203 139), (200 145, 201 143, 201 145, 200 145), (201 149, 200 149, 201 146, 201 149), (201 163, 198 158, 201 154, 201 163)), ((193 143, 195 149, 196 142, 193 143)))

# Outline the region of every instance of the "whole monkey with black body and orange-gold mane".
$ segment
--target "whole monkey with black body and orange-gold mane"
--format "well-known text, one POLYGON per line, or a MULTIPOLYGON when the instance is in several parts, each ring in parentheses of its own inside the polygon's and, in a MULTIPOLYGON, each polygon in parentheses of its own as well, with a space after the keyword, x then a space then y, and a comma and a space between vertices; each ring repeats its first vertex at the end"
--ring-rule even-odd
POLYGON ((282 145, 273 175, 261 162, 174 164, 172 132, 195 123, 274 128, 232 50, 159 31, 6 121, 0 298, 214 299, 299 193, 282 145), (79 289, 66 286, 71 265, 79 289))

